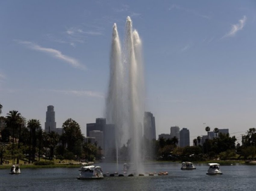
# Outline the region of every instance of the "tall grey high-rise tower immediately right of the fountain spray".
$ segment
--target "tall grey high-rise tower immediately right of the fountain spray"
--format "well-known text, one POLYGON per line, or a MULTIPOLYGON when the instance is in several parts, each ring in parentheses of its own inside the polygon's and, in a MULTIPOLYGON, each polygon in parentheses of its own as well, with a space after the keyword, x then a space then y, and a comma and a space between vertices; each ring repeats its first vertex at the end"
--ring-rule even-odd
POLYGON ((144 136, 145 138, 156 139, 155 117, 151 112, 144 112, 144 136))

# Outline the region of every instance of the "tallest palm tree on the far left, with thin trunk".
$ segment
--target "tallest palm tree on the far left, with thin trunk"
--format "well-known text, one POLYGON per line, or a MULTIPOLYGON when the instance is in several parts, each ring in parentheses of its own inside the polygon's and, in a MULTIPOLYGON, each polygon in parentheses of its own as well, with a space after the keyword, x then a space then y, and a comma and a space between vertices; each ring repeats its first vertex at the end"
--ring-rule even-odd
MULTIPOLYGON (((12 157, 14 159, 14 132, 19 127, 21 114, 18 111, 9 111, 6 116, 7 126, 12 129, 12 157)), ((13 164, 15 163, 15 159, 13 164)))

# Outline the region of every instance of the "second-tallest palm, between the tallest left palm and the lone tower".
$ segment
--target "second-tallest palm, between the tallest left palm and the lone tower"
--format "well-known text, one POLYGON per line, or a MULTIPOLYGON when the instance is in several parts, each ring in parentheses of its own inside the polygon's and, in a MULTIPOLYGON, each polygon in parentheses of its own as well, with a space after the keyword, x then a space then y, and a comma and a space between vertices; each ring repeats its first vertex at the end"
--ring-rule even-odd
POLYGON ((31 119, 28 121, 28 128, 30 129, 30 142, 29 142, 29 163, 35 161, 36 154, 36 130, 41 127, 39 120, 31 119), (31 141, 32 141, 32 153, 31 153, 31 141), (32 154, 32 157, 31 157, 32 154))

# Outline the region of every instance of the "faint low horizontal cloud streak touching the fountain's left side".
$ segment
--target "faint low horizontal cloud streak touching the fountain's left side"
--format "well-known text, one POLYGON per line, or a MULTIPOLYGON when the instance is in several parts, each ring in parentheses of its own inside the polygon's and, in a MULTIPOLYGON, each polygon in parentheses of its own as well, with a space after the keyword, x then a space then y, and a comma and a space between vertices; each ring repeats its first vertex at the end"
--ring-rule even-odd
POLYGON ((74 96, 88 96, 88 97, 95 97, 95 98, 104 98, 101 92, 94 92, 94 91, 84 91, 84 90, 49 90, 51 92, 58 92, 65 95, 74 95, 74 96))

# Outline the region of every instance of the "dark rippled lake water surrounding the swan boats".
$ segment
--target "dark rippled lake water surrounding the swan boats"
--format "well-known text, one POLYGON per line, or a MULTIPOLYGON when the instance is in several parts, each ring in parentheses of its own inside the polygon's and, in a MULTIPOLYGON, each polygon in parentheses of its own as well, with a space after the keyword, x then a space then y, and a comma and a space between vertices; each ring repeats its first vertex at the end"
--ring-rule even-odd
MULTIPOLYGON (((115 164, 98 164, 103 172, 114 172, 115 164)), ((120 169, 122 165, 119 165, 120 169)), ((0 191, 62 190, 255 190, 256 165, 222 165, 223 175, 206 175, 208 165, 196 170, 180 170, 180 163, 146 163, 145 171, 167 171, 167 176, 105 177, 103 180, 77 180, 78 168, 22 169, 11 175, 0 170, 0 191)))

